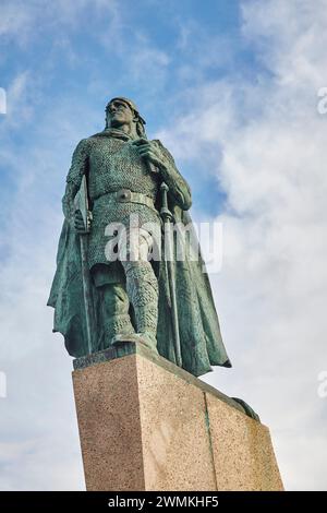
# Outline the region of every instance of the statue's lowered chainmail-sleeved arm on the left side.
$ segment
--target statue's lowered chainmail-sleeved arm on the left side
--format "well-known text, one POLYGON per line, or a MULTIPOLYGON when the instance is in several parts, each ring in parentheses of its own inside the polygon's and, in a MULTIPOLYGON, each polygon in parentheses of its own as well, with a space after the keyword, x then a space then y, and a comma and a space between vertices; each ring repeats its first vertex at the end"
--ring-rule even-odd
POLYGON ((74 215, 74 198, 81 187, 83 175, 87 170, 88 164, 88 145, 87 140, 83 139, 76 146, 73 157, 72 165, 70 167, 64 196, 62 198, 62 210, 64 217, 72 222, 74 215))

